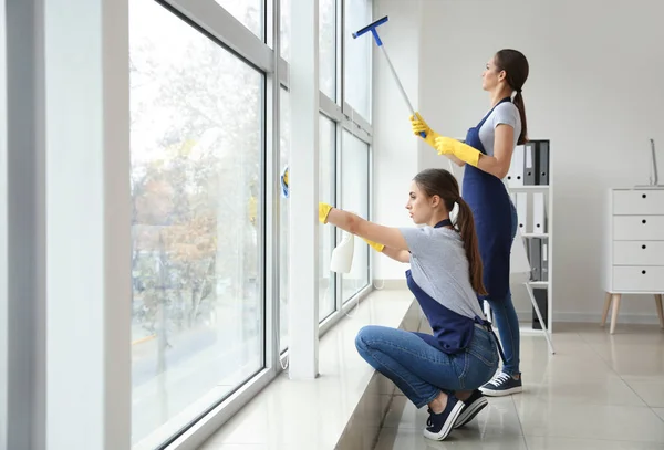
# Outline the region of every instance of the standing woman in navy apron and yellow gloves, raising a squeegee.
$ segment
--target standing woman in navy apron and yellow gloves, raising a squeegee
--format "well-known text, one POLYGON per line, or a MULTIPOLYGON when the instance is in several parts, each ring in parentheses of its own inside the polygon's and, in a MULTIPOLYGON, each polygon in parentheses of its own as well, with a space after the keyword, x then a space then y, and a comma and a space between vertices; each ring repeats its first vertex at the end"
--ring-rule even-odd
POLYGON ((501 180, 509 171, 515 147, 528 140, 521 94, 528 72, 528 60, 519 51, 504 49, 491 57, 481 76, 491 108, 476 127, 468 130, 465 144, 433 132, 417 113, 416 117, 411 117, 416 135, 425 132, 425 142, 439 155, 446 155, 458 166, 466 166, 463 197, 475 216, 484 284, 488 291, 488 295, 479 299, 487 300, 494 311, 505 353, 501 371, 481 387, 488 396, 522 390, 519 321, 509 289, 510 250, 518 218, 501 180))

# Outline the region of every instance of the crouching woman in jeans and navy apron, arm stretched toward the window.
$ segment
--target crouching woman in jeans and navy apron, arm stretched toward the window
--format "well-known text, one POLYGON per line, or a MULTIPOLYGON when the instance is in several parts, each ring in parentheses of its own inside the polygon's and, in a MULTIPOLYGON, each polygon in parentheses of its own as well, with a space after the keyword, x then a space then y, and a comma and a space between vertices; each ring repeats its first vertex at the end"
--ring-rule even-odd
POLYGON ((417 408, 428 406, 424 436, 443 440, 487 405, 477 388, 496 373, 499 347, 477 301, 478 294, 486 294, 483 268, 473 213, 459 196, 457 180, 443 169, 417 174, 406 209, 424 227, 383 227, 326 203, 320 203, 319 219, 411 263, 408 287, 434 334, 365 326, 355 344, 417 408), (455 203, 459 211, 452 223, 455 203))

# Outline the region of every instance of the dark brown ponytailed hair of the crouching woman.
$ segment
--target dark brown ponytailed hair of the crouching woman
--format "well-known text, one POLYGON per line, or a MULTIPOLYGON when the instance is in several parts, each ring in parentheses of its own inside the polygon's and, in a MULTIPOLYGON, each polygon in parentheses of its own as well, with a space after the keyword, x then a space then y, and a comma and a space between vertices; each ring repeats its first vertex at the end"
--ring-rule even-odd
POLYGON ((459 213, 455 226, 461 234, 464 249, 468 258, 470 284, 479 295, 487 295, 483 283, 483 264, 477 233, 475 232, 475 218, 470 207, 459 195, 459 184, 456 178, 445 169, 425 169, 417 174, 413 180, 427 196, 440 197, 448 211, 452 212, 454 203, 459 205, 459 213))

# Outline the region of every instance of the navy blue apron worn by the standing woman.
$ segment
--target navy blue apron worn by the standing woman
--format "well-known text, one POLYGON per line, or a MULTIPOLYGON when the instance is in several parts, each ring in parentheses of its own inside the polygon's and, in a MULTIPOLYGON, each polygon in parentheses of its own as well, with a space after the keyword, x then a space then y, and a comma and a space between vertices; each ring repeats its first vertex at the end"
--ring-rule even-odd
MULTIPOLYGON (((510 97, 502 98, 496 106, 504 102, 510 102, 510 97)), ((487 153, 479 139, 479 129, 496 106, 466 134, 466 144, 484 155, 487 153)), ((484 265, 483 281, 489 293, 479 296, 479 300, 506 299, 509 293, 509 259, 512 242, 509 193, 498 177, 467 164, 464 169, 463 197, 475 218, 479 254, 484 265)))

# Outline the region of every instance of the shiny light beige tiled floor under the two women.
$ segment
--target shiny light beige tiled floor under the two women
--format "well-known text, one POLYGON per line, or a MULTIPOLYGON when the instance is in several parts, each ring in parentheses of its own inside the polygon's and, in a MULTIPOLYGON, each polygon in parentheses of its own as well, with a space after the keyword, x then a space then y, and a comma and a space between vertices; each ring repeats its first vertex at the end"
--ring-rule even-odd
POLYGON ((522 336, 525 391, 489 406, 443 442, 422 436, 426 408, 394 398, 376 450, 664 449, 664 332, 656 326, 560 324, 550 355, 522 336))

